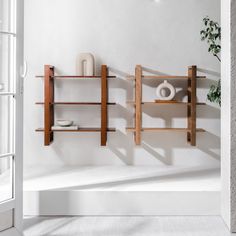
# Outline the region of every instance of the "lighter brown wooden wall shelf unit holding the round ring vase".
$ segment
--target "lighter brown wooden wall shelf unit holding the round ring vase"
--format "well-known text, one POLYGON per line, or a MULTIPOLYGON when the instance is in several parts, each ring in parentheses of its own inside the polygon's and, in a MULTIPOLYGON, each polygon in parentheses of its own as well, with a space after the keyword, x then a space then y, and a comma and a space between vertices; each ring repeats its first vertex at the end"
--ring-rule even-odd
POLYGON ((135 82, 135 101, 127 102, 134 106, 135 109, 135 125, 134 127, 127 128, 128 132, 134 132, 134 140, 136 145, 141 144, 141 133, 145 131, 149 132, 163 132, 163 131, 175 131, 175 132, 186 132, 187 141, 192 145, 196 146, 196 133, 205 132, 204 129, 196 128, 196 106, 206 105, 202 102, 197 102, 196 91, 197 91, 197 78, 206 78, 205 76, 197 76, 197 67, 190 66, 188 68, 187 76, 170 76, 170 75, 143 75, 143 69, 141 65, 137 65, 135 68, 135 76, 130 76, 128 79, 134 80, 135 82), (187 82, 187 95, 188 101, 142 101, 142 82, 143 79, 184 79, 187 82), (144 128, 142 127, 142 106, 143 105, 186 105, 187 106, 187 128, 144 128))

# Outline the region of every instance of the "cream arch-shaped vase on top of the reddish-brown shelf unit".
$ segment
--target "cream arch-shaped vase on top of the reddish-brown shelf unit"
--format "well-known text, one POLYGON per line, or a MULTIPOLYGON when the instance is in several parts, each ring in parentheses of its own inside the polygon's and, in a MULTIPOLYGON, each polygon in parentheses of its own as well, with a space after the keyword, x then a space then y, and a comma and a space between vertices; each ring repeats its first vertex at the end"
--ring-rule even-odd
POLYGON ((94 75, 94 56, 91 53, 81 53, 76 60, 76 74, 79 76, 94 75))

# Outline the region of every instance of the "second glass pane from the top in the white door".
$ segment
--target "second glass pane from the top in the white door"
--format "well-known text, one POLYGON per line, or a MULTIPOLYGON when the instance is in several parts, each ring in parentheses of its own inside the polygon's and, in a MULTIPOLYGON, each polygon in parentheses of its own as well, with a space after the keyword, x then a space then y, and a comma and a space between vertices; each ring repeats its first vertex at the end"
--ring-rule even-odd
POLYGON ((13 76, 13 68, 11 68, 14 62, 13 50, 14 37, 0 34, 0 93, 13 92, 13 84, 10 79, 13 76))

